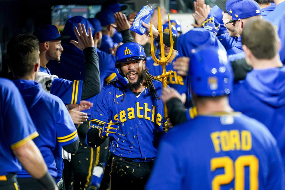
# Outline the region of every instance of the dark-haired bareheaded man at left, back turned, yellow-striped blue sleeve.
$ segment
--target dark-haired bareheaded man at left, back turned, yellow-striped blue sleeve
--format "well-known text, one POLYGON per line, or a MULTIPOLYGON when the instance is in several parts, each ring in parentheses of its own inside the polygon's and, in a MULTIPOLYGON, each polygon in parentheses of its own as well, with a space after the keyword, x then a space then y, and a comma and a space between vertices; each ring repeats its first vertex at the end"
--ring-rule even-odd
MULTIPOLYGON (((77 150, 77 130, 61 99, 45 92, 34 81, 39 69, 39 46, 14 42, 9 42, 9 68, 17 79, 13 82, 20 90, 40 134, 34 142, 44 157, 48 172, 58 182, 63 169, 62 147, 71 153, 77 150)), ((21 189, 44 189, 26 170, 19 172, 18 178, 21 189)))

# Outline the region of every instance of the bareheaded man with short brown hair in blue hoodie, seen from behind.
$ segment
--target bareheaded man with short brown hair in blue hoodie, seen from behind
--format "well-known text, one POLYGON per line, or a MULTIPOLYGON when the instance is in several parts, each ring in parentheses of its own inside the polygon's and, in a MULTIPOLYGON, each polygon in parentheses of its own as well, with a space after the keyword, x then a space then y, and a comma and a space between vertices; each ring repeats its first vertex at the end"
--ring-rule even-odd
POLYGON ((274 27, 265 20, 248 23, 242 35, 246 61, 253 70, 234 85, 230 105, 267 126, 285 163, 285 70, 278 54, 280 41, 274 27))

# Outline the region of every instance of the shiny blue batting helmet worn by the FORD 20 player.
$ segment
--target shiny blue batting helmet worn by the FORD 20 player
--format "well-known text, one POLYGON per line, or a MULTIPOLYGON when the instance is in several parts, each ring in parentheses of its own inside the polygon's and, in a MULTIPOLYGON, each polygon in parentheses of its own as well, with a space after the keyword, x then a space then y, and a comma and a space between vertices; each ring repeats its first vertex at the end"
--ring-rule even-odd
POLYGON ((198 96, 223 96, 232 91, 233 73, 223 49, 193 49, 190 58, 191 89, 198 96))

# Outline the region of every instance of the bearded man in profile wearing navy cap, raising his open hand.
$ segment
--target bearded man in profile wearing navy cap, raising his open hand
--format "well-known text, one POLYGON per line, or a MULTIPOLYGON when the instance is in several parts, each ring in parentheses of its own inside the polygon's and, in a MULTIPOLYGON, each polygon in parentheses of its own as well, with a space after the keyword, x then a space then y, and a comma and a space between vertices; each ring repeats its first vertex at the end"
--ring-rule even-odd
MULTIPOLYGON (((83 25, 82 27, 81 24, 78 24, 78 29, 72 29, 72 34, 77 37, 72 38, 72 43, 76 46, 75 48, 79 48, 81 53, 83 50, 82 54, 84 54, 85 58, 84 78, 81 80, 72 79, 72 81, 59 78, 50 81, 51 79, 48 80, 47 77, 46 80, 42 80, 42 85, 47 91, 50 91, 51 94, 60 97, 65 104, 80 104, 81 99, 87 99, 99 93, 99 63, 92 34, 87 34, 85 26, 83 25)), ((58 36, 60 36, 60 38, 62 36, 59 34, 56 26, 42 25, 34 31, 34 35, 39 39, 40 63, 43 68, 46 67, 50 60, 58 61, 61 59, 60 56, 63 48, 61 46, 61 40, 58 40, 58 36)), ((64 36, 64 38, 66 38, 66 36, 64 36)), ((54 66, 58 66, 58 64, 54 63, 54 66)), ((60 66, 58 67, 61 69, 60 66)), ((42 76, 42 73, 40 74, 40 76, 42 76)), ((39 77, 36 79, 37 81, 40 80, 39 77)))

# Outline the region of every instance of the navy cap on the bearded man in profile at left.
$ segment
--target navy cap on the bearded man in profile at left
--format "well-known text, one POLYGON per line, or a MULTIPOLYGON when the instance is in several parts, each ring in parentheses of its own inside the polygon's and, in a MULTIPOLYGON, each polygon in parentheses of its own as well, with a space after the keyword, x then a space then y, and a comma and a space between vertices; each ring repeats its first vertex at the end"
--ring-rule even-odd
POLYGON ((51 24, 38 27, 33 34, 39 39, 39 43, 48 42, 51 40, 62 40, 70 37, 61 36, 58 28, 51 24))

